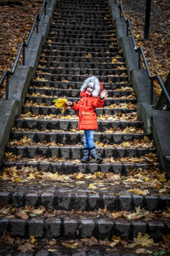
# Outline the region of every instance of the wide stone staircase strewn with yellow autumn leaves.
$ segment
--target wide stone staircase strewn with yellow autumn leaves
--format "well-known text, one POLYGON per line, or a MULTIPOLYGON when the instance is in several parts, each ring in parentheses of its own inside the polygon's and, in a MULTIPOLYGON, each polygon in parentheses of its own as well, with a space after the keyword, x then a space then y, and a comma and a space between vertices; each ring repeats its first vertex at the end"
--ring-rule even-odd
MULTIPOLYGON (((39 242, 93 237, 109 243, 114 235, 133 241, 140 232, 162 241, 170 224, 160 212, 167 211, 170 197, 159 195, 161 187, 154 183, 162 175, 156 147, 144 134, 136 104, 107 2, 57 2, 35 79, 3 159, 1 236, 34 236, 39 242), (91 75, 109 92, 104 108, 96 109, 99 130, 94 140, 104 159, 100 165, 94 160, 82 164, 77 113, 71 108, 61 113, 53 102, 64 96, 77 102, 82 82, 91 75), (142 217, 135 219, 135 214, 142 217)), ((71 249, 62 254, 53 246, 59 254, 45 248, 44 255, 74 255, 71 249)))

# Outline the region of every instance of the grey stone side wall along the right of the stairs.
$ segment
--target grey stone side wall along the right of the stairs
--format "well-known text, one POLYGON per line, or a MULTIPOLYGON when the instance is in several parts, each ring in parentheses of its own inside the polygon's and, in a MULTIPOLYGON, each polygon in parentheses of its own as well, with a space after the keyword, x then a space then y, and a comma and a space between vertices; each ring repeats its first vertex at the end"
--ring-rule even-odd
POLYGON ((133 49, 132 38, 126 36, 127 24, 120 18, 120 10, 114 0, 108 0, 112 23, 116 27, 117 43, 122 48, 127 65, 127 73, 138 98, 139 119, 144 122, 144 131, 153 136, 162 172, 170 178, 170 123, 169 111, 156 110, 157 99, 154 91, 153 105, 150 105, 150 79, 146 70, 138 67, 138 53, 133 49), (159 122, 157 121, 159 119, 159 122), (161 124, 161 125, 160 125, 161 124))

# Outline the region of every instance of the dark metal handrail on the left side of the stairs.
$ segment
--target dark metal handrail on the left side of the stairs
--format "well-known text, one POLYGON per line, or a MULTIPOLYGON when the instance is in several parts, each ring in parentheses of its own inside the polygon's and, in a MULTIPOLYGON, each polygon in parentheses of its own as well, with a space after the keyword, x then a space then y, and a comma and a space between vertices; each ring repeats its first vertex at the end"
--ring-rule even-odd
POLYGON ((30 39, 31 39, 31 35, 34 31, 34 27, 36 25, 36 22, 37 22, 37 33, 38 33, 38 22, 42 19, 42 13, 44 11, 44 14, 46 15, 46 5, 48 4, 48 1, 49 0, 44 0, 43 1, 43 4, 42 4, 42 9, 41 9, 41 13, 40 15, 36 15, 35 18, 34 18, 34 21, 32 23, 32 26, 31 26, 31 31, 29 33, 29 36, 26 40, 26 43, 25 42, 21 42, 20 43, 20 48, 18 50, 18 53, 15 57, 15 60, 14 60, 14 65, 12 67, 12 70, 11 71, 8 71, 6 70, 5 72, 3 72, 3 75, 0 79, 0 88, 2 87, 2 84, 3 84, 3 81, 4 79, 6 79, 6 93, 5 93, 5 100, 8 100, 8 79, 9 79, 9 76, 13 75, 14 72, 15 72, 15 69, 16 69, 16 66, 17 66, 17 63, 19 61, 19 58, 20 58, 20 53, 21 53, 21 50, 23 49, 23 58, 22 58, 22 64, 25 65, 25 62, 26 62, 26 59, 25 59, 25 49, 26 47, 28 46, 29 42, 30 42, 30 39))

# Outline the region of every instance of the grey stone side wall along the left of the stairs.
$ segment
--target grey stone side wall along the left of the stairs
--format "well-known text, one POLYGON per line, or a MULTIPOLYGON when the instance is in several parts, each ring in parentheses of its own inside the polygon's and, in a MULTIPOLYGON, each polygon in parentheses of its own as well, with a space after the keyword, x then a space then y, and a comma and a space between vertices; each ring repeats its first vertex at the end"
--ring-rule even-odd
POLYGON ((31 36, 29 46, 26 48, 26 65, 17 66, 14 75, 9 79, 8 100, 0 101, 0 163, 3 160, 10 131, 14 126, 14 119, 20 114, 27 86, 36 72, 42 44, 45 42, 53 18, 55 3, 56 0, 49 1, 47 13, 39 22, 39 32, 34 32, 31 36))

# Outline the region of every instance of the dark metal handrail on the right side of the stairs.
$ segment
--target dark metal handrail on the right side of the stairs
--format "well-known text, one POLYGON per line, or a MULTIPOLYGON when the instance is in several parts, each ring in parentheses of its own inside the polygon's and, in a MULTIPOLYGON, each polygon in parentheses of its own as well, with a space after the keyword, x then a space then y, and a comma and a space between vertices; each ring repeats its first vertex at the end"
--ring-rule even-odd
POLYGON ((144 55, 144 50, 141 46, 139 46, 139 48, 137 48, 136 46, 136 42, 135 42, 135 38, 133 35, 133 29, 131 26, 131 22, 129 19, 126 18, 126 15, 124 14, 123 11, 123 7, 122 7, 122 3, 119 3, 118 0, 115 0, 115 4, 117 3, 117 7, 120 9, 120 18, 123 16, 123 19, 125 20, 125 23, 127 23, 127 36, 128 36, 128 30, 130 30, 131 32, 131 36, 133 39, 133 49, 135 50, 135 52, 139 52, 139 68, 141 68, 141 63, 140 63, 140 57, 142 55, 143 61, 144 61, 144 66, 146 68, 146 72, 148 74, 148 77, 150 79, 150 104, 153 105, 153 97, 154 97, 154 86, 153 86, 153 82, 154 80, 157 80, 161 86, 161 90, 163 90, 165 96, 167 97, 167 102, 170 104, 170 96, 167 93, 167 89, 165 87, 165 85, 163 84, 161 77, 156 75, 156 76, 152 76, 150 73, 150 67, 148 66, 148 62, 146 60, 146 57, 144 55))

